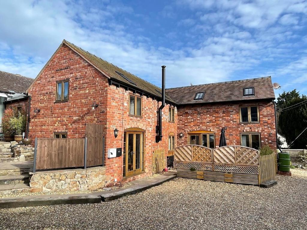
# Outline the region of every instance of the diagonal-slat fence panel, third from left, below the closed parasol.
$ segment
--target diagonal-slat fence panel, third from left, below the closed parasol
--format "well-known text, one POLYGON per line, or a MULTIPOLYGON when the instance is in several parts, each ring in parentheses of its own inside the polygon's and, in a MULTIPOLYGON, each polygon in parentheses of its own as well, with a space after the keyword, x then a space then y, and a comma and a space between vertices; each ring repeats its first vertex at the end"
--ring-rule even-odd
POLYGON ((214 163, 235 164, 235 146, 225 146, 213 150, 214 163))

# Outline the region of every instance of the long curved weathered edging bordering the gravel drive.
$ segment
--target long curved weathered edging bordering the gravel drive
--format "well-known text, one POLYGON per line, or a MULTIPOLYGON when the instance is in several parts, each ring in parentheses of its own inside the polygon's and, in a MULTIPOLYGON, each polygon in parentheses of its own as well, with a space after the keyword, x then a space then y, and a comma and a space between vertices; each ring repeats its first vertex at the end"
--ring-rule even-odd
POLYGON ((174 173, 165 173, 152 179, 139 179, 134 181, 134 185, 128 188, 99 191, 88 194, 51 194, 41 196, 27 196, 0 199, 0 208, 17 208, 28 206, 41 205, 67 205, 67 204, 93 204, 101 201, 112 201, 120 197, 135 194, 143 190, 149 189, 153 186, 160 185, 166 181, 176 178, 174 173))

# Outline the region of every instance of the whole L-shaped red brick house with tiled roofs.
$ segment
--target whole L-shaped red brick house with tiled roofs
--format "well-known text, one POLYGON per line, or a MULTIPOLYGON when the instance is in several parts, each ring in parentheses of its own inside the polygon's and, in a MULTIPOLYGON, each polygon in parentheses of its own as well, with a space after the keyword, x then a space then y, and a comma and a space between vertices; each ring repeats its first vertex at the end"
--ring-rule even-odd
POLYGON ((227 144, 240 144, 240 136, 242 144, 255 143, 258 134, 259 146, 275 148, 270 77, 167 89, 163 109, 162 91, 64 40, 27 90, 29 138, 84 138, 86 124, 103 125, 107 183, 150 175, 157 149, 173 155, 182 144, 214 148, 223 127, 227 144), (122 156, 108 158, 110 148, 122 148, 122 156))

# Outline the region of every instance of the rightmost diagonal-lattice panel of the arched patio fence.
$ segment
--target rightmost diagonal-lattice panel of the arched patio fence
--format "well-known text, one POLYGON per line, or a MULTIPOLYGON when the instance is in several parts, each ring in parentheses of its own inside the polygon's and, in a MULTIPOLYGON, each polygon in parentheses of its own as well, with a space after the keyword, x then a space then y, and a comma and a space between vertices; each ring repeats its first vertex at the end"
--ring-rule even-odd
POLYGON ((246 148, 243 146, 236 146, 236 164, 244 164, 244 165, 259 165, 259 151, 246 148))

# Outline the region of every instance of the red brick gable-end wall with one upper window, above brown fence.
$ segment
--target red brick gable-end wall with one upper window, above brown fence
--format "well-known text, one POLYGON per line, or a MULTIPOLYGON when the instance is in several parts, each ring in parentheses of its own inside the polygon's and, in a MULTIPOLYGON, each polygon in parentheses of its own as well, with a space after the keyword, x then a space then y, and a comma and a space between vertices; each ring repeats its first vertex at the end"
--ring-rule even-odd
POLYGON ((68 138, 84 138, 86 123, 106 125, 107 85, 106 77, 64 44, 29 90, 29 137, 67 132, 68 138), (69 100, 55 102, 56 81, 64 79, 69 79, 69 100), (99 105, 95 110, 93 102, 99 105))

